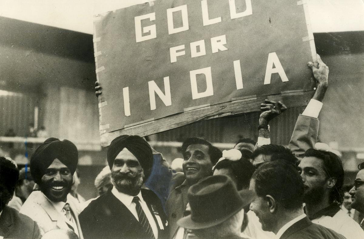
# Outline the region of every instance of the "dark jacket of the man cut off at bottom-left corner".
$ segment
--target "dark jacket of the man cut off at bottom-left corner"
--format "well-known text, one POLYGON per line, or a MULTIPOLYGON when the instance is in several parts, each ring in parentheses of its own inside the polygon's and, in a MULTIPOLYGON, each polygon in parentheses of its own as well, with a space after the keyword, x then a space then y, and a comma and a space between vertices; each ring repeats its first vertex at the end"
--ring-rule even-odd
POLYGON ((4 238, 40 239, 38 225, 28 216, 5 206, 0 216, 0 236, 4 238))

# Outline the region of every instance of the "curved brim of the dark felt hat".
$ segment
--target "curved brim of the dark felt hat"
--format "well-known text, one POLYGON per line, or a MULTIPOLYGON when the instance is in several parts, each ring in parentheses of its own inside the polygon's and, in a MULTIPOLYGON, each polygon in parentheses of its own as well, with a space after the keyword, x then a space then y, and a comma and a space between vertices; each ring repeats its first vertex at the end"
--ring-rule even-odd
POLYGON ((195 222, 194 220, 192 220, 192 216, 188 215, 188 216, 185 216, 185 217, 179 219, 177 221, 177 224, 178 224, 178 226, 186 228, 186 229, 196 230, 196 229, 204 229, 204 228, 213 227, 220 223, 223 223, 227 219, 234 216, 238 211, 240 211, 242 208, 247 206, 249 203, 253 202, 253 200, 257 197, 253 191, 250 191, 247 189, 240 190, 239 195, 243 199, 244 203, 241 204, 239 207, 237 207, 236 210, 234 210, 233 212, 230 212, 230 214, 228 214, 222 218, 219 218, 219 219, 216 219, 216 220, 213 220, 210 222, 195 222))

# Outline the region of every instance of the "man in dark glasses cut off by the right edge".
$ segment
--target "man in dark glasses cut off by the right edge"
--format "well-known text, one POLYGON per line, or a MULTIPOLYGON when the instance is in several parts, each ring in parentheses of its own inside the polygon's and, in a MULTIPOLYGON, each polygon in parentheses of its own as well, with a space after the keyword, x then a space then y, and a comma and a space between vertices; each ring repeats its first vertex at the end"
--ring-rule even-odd
MULTIPOLYGON (((351 195, 351 207, 357 211, 364 212, 364 162, 358 165, 360 170, 355 178, 354 187, 349 191, 351 195)), ((364 230, 364 219, 360 222, 360 227, 364 230)))

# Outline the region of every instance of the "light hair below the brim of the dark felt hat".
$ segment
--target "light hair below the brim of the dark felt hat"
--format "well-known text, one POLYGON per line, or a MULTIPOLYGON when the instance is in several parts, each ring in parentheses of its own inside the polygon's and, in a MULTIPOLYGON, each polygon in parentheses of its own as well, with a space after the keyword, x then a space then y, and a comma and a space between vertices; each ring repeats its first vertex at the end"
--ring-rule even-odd
POLYGON ((198 236, 198 238, 202 239, 240 236, 240 232, 242 230, 241 225, 245 215, 244 209, 242 209, 226 221, 216 226, 193 230, 193 232, 198 236))

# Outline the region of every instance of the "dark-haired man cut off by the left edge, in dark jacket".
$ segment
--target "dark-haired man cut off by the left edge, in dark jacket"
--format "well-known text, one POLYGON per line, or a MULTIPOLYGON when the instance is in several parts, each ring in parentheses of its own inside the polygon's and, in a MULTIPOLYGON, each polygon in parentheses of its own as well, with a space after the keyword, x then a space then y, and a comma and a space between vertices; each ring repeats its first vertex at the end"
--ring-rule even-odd
POLYGON ((0 238, 39 239, 37 224, 7 206, 12 198, 19 171, 10 160, 0 157, 0 238))

